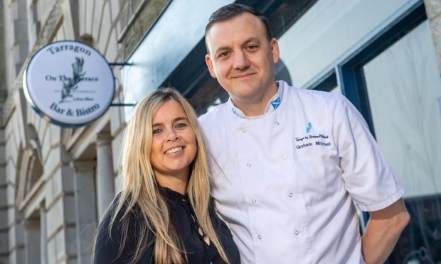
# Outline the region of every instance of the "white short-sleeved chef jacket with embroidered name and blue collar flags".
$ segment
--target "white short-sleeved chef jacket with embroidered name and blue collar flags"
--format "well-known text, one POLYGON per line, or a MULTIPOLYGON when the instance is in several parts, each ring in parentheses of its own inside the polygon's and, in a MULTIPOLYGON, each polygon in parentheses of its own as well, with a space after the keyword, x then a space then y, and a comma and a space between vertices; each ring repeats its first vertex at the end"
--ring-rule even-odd
POLYGON ((262 116, 230 99, 199 119, 241 260, 364 263, 354 202, 383 209, 403 187, 345 97, 278 84, 262 116))

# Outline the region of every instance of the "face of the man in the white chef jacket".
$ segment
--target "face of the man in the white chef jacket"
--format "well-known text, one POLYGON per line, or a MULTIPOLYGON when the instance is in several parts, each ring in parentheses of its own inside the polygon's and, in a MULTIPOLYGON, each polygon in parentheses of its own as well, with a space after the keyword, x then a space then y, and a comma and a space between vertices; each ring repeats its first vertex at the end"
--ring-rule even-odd
POLYGON ((275 38, 267 39, 259 18, 243 13, 215 23, 206 44, 208 70, 236 106, 267 103, 275 93, 270 87, 275 85, 272 66, 279 60, 279 46, 275 38))

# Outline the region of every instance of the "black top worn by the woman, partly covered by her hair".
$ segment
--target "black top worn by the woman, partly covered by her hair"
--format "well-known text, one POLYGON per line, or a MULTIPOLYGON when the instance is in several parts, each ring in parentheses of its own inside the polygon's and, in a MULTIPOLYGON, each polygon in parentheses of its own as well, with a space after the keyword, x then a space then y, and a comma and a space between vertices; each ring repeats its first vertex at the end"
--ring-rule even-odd
MULTIPOLYGON (((176 228, 176 233, 181 237, 187 253, 188 264, 224 263, 214 244, 210 243, 210 245, 208 245, 203 241, 203 234, 199 231, 201 229, 199 229, 198 222, 195 221, 196 214, 191 207, 191 203, 188 201, 188 196, 167 188, 161 188, 161 191, 169 205, 170 217, 176 228)), ((118 213, 118 217, 112 226, 112 238, 109 237, 107 227, 112 218, 112 213, 117 207, 119 197, 120 194, 115 197, 110 209, 107 210, 107 213, 98 227, 94 253, 95 264, 129 263, 129 260, 132 258, 134 250, 136 249, 139 221, 144 221, 144 219, 139 213, 136 213, 137 209, 132 209, 132 212, 128 215, 129 227, 127 243, 124 246, 122 255, 115 259, 119 250, 122 235, 122 226, 118 219, 121 219, 122 214, 124 214, 124 209, 118 213)), ((230 263, 240 263, 239 251, 228 227, 218 218, 218 216, 216 216, 216 214, 212 214, 211 221, 230 263)), ((185 260, 184 255, 183 259, 185 260)), ((147 234, 147 248, 145 248, 142 257, 137 263, 154 263, 154 235, 151 232, 147 234)))

